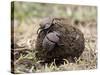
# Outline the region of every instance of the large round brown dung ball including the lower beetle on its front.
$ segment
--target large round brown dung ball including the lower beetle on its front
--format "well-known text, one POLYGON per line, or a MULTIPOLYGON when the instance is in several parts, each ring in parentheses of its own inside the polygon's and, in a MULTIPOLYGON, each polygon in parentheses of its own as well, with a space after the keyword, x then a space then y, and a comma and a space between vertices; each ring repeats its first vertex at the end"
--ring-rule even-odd
MULTIPOLYGON (((47 24, 45 21, 43 20, 44 26, 47 24)), ((51 62, 54 59, 67 59, 73 62, 75 58, 78 59, 85 48, 83 33, 65 18, 52 18, 52 23, 48 24, 50 27, 47 29, 40 28, 36 41, 36 57, 44 62, 51 62)))

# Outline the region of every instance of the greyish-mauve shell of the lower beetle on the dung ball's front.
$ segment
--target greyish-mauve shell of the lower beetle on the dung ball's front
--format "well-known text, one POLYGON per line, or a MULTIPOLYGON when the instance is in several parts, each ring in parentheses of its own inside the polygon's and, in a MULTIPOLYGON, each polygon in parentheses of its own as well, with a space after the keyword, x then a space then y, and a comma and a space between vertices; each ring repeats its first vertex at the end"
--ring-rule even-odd
POLYGON ((45 38, 43 39, 42 46, 45 50, 51 51, 54 47, 55 44, 59 42, 59 36, 60 34, 57 32, 51 32, 48 33, 45 38))

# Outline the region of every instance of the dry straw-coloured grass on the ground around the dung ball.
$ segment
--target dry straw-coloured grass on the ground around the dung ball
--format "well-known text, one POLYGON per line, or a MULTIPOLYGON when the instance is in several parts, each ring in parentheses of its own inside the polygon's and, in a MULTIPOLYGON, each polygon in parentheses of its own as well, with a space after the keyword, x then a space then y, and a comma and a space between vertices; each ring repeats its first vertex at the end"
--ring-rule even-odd
POLYGON ((18 59, 14 61, 15 73, 89 70, 97 68, 97 32, 95 21, 85 21, 84 26, 81 23, 78 24, 77 27, 84 33, 85 50, 81 57, 76 60, 76 63, 69 63, 64 59, 65 63, 60 66, 56 66, 55 62, 49 65, 40 65, 40 61, 36 60, 35 41, 38 27, 37 20, 32 20, 28 26, 23 22, 19 27, 16 27, 14 31, 15 43, 23 48, 14 49, 19 54, 18 59))

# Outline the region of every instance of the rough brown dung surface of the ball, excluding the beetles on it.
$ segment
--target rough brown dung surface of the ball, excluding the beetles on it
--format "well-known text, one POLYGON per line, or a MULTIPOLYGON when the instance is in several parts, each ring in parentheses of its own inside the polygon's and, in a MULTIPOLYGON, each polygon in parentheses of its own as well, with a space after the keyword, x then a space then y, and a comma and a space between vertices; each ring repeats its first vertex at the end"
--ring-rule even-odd
POLYGON ((54 19, 54 25, 49 32, 59 31, 61 35, 60 44, 61 46, 55 46, 53 50, 43 50, 42 42, 47 35, 42 31, 37 37, 36 50, 37 58, 50 62, 51 60, 68 59, 69 61, 74 60, 74 57, 78 58, 84 51, 84 35, 83 33, 68 23, 65 23, 65 19, 54 19))

